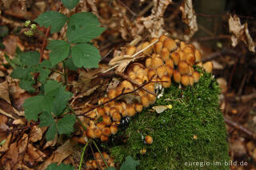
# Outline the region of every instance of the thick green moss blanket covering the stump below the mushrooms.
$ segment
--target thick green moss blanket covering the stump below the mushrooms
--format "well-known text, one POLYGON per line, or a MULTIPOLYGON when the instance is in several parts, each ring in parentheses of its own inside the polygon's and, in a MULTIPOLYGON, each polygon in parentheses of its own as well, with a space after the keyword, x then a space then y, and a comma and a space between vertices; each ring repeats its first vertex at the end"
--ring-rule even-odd
POLYGON ((224 164, 230 157, 218 93, 218 84, 208 73, 193 87, 171 85, 154 105, 173 105, 173 109, 160 114, 143 110, 126 128, 126 144, 110 148, 111 155, 119 164, 130 155, 140 160, 137 169, 142 170, 229 169, 224 164), (153 144, 143 143, 146 135, 154 138, 153 144), (142 148, 146 148, 144 155, 139 153, 142 148))

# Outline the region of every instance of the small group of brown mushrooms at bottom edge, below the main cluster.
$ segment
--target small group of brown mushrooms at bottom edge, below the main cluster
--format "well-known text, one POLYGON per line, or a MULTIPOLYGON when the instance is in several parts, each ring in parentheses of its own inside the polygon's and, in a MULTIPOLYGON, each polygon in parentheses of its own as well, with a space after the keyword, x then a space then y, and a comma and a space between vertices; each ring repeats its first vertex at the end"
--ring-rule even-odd
POLYGON ((102 156, 99 152, 94 153, 95 160, 88 160, 86 161, 86 170, 94 170, 94 169, 105 169, 106 164, 109 167, 114 167, 114 159, 110 157, 106 152, 102 152, 102 156), (104 160, 102 159, 102 156, 104 160))

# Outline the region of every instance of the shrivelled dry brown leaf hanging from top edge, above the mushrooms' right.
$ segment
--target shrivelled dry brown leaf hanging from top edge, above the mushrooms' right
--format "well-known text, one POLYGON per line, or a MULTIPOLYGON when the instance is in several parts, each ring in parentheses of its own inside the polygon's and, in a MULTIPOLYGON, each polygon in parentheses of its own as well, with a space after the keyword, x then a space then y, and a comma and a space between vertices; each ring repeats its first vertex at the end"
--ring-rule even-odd
POLYGON ((184 36, 188 41, 198 31, 197 16, 193 10, 192 0, 185 0, 180 6, 180 10, 182 11, 182 21, 190 28, 190 34, 184 36))

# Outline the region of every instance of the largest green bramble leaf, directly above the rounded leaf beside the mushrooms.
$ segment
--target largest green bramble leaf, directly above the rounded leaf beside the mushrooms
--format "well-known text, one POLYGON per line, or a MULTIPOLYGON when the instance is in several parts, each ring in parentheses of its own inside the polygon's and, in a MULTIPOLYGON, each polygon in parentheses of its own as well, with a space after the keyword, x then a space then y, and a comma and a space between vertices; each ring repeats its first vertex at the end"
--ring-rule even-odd
POLYGON ((90 42, 105 29, 100 27, 98 18, 92 13, 77 13, 70 17, 66 37, 71 43, 90 42))

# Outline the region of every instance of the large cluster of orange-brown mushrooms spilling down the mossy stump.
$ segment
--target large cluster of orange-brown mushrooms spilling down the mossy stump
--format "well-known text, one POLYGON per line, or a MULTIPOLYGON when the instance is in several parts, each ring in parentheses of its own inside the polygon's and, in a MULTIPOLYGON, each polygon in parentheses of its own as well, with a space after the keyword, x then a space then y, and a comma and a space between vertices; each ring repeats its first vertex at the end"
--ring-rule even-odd
MULTIPOLYGON (((202 64, 202 54, 194 45, 186 45, 185 42, 173 40, 166 35, 153 38, 150 42, 143 42, 138 47, 130 46, 126 48, 125 54, 132 56, 140 50, 146 57, 140 62, 130 64, 125 72, 135 85, 127 80, 121 81, 117 88, 108 90, 106 97, 100 98, 98 104, 110 101, 122 93, 133 92, 146 82, 150 81, 150 83, 146 84, 145 88, 136 90, 137 100, 130 102, 114 100, 95 109, 94 113, 98 118, 102 117, 102 121, 98 123, 90 121, 90 125, 86 128, 86 137, 108 140, 111 135, 118 132, 122 117, 134 117, 136 113, 142 112, 143 108, 154 104, 156 101, 154 94, 158 85, 168 88, 172 79, 184 86, 194 85, 201 76, 194 70, 194 65, 201 66, 208 73, 213 69, 210 61, 202 64)), ((147 140, 147 144, 152 144, 151 136, 147 140)))

